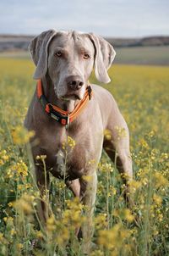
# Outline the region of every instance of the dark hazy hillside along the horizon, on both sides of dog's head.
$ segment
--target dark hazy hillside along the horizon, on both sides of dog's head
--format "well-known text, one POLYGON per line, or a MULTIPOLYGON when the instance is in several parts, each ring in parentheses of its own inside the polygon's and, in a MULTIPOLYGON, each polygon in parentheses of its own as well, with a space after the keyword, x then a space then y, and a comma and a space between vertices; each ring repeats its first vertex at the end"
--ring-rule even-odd
MULTIPOLYGON (((0 35, 0 52, 26 51, 34 36, 0 35)), ((106 38, 114 47, 167 46, 169 36, 150 36, 144 38, 106 38)))

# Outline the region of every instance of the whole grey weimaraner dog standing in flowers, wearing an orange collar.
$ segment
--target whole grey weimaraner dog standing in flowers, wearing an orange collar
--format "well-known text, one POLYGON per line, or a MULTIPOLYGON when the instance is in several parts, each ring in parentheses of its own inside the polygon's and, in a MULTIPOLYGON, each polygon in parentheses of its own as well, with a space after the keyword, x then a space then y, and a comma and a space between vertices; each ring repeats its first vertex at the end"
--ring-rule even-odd
MULTIPOLYGON (((50 171, 63 178, 74 195, 87 205, 88 224, 82 226, 87 250, 92 236, 96 170, 102 147, 113 162, 116 159, 120 173, 129 179, 133 175, 128 126, 117 103, 106 89, 89 84, 93 68, 98 81, 111 81, 107 70, 116 53, 101 36, 54 30, 36 36, 30 42, 30 53, 39 87, 31 100, 25 127, 35 131, 30 143, 37 185, 43 194, 50 171), (125 136, 119 137, 117 127, 125 131, 125 136), (75 147, 67 154, 65 164, 63 143, 68 136, 74 139, 75 147), (46 179, 41 164, 36 164, 37 155, 46 155, 46 179), (90 176, 89 181, 84 179, 85 175, 90 176)), ((41 202, 38 214, 42 222, 46 221, 46 212, 46 205, 41 202)))

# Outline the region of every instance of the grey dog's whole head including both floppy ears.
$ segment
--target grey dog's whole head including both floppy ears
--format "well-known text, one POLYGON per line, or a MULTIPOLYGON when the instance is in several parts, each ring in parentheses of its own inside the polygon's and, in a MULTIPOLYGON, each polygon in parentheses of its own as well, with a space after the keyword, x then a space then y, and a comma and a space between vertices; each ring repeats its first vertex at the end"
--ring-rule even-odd
POLYGON ((95 67, 98 81, 108 83, 115 51, 101 36, 75 31, 45 31, 30 42, 35 79, 50 76, 57 98, 83 98, 95 67))

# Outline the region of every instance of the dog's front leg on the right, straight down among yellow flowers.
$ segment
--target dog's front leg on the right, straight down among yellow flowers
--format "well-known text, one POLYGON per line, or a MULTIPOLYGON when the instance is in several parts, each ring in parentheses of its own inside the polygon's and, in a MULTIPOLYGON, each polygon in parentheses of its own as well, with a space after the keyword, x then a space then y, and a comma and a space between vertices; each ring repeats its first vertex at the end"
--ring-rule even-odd
POLYGON ((95 195, 97 187, 97 175, 94 171, 86 178, 80 179, 80 198, 85 205, 85 223, 82 225, 83 253, 90 253, 91 237, 93 236, 92 217, 95 207, 95 195))

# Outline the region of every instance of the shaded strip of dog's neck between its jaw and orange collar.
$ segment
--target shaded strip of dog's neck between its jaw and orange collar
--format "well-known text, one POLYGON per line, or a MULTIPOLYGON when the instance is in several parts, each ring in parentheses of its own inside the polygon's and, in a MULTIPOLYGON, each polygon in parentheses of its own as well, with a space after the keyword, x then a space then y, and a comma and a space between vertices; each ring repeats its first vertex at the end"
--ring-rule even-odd
POLYGON ((56 105, 58 108, 63 109, 65 111, 68 111, 71 113, 74 111, 75 106, 79 103, 79 100, 63 100, 59 99, 56 96, 56 93, 54 91, 54 85, 52 83, 52 80, 50 79, 49 75, 46 75, 42 79, 42 86, 43 86, 43 92, 45 94, 45 97, 47 98, 49 103, 52 103, 53 105, 56 105))

